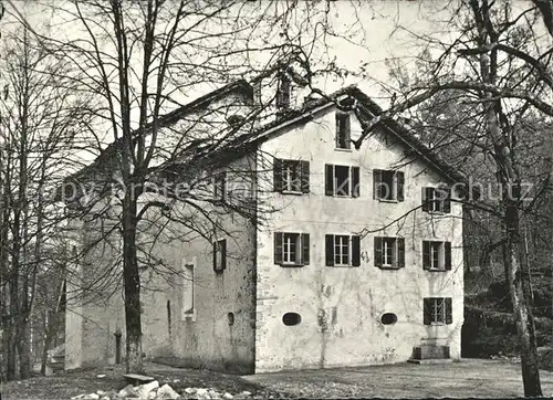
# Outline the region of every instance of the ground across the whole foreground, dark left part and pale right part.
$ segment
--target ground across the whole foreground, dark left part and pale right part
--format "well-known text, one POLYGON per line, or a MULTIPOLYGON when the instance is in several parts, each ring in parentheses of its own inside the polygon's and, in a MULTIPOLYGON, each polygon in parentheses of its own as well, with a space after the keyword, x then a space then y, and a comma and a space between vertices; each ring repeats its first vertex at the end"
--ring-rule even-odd
MULTIPOLYGON (((336 368, 238 377, 206 370, 147 364, 148 375, 177 391, 186 387, 213 388, 220 392, 251 391, 261 398, 378 397, 378 398, 509 398, 521 397, 520 364, 505 360, 463 359, 449 365, 374 366, 336 368)), ((121 389, 123 368, 108 367, 65 372, 10 382, 2 399, 70 399, 98 389, 121 389), (97 378, 105 373, 105 378, 97 378)), ((553 396, 553 372, 542 371, 545 397, 553 396)))

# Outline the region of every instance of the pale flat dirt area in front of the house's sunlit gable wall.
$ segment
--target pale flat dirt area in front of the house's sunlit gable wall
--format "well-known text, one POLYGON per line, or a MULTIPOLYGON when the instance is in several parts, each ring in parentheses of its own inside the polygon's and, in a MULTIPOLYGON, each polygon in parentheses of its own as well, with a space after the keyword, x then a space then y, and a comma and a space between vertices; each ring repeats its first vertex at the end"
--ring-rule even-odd
MULTIPOLYGON (((545 397, 553 372, 542 371, 545 397)), ((522 397, 520 364, 466 359, 450 365, 375 366, 274 372, 244 379, 290 397, 509 398, 522 397)))

